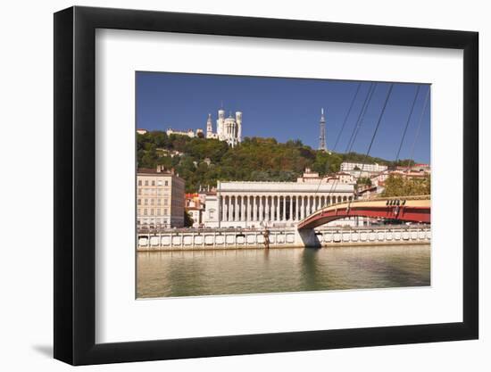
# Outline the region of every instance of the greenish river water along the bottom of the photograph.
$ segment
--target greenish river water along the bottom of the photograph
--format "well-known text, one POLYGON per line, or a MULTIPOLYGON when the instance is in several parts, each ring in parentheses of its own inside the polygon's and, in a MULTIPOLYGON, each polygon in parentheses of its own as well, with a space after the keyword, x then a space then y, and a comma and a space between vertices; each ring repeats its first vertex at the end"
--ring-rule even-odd
POLYGON ((137 297, 430 285, 425 245, 138 252, 137 297))

